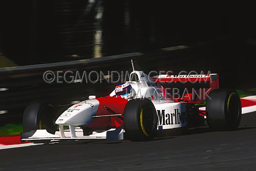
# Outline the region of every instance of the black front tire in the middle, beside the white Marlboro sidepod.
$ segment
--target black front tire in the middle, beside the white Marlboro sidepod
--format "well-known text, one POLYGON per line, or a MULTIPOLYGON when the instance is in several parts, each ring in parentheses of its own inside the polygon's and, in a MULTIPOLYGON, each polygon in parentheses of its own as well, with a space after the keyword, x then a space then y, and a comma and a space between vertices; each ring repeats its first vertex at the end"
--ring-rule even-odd
POLYGON ((125 105, 124 130, 132 141, 150 140, 157 134, 157 113, 148 99, 132 99, 125 105))

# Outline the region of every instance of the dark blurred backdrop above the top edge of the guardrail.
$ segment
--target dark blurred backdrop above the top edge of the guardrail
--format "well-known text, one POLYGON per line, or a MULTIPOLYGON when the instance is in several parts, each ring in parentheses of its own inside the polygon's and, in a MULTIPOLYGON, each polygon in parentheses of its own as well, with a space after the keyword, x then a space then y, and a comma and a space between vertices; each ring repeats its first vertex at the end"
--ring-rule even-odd
POLYGON ((0 8, 1 52, 16 65, 256 38, 255 3, 4 0, 0 8))

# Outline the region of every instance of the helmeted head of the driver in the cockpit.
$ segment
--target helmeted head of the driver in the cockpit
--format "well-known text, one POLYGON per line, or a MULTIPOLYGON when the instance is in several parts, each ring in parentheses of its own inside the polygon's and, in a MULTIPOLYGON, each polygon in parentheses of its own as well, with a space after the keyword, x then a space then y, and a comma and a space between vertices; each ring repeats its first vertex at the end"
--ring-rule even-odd
POLYGON ((116 86, 115 93, 117 96, 121 96, 122 98, 132 98, 133 88, 129 83, 123 83, 119 86, 116 86))

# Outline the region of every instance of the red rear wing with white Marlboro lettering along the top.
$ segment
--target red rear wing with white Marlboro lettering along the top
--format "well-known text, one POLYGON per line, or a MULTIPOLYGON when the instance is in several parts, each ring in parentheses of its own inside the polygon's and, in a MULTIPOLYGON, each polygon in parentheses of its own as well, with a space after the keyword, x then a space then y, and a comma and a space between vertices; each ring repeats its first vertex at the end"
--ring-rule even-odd
POLYGON ((179 89, 183 97, 176 100, 190 103, 203 103, 212 90, 219 89, 219 74, 158 75, 153 79, 165 89, 179 89))

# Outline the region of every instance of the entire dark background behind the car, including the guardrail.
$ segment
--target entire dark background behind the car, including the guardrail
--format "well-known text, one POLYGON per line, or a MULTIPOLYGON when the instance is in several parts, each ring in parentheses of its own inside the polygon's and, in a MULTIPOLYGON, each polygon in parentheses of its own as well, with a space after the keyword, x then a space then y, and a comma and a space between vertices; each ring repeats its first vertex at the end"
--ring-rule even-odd
POLYGON ((21 123, 26 104, 65 108, 108 95, 107 83, 47 84, 52 71, 211 71, 222 88, 254 94, 255 2, 3 0, 0 124, 21 123), (86 59, 86 60, 84 60, 86 59), (73 62, 73 63, 72 63, 73 62))

